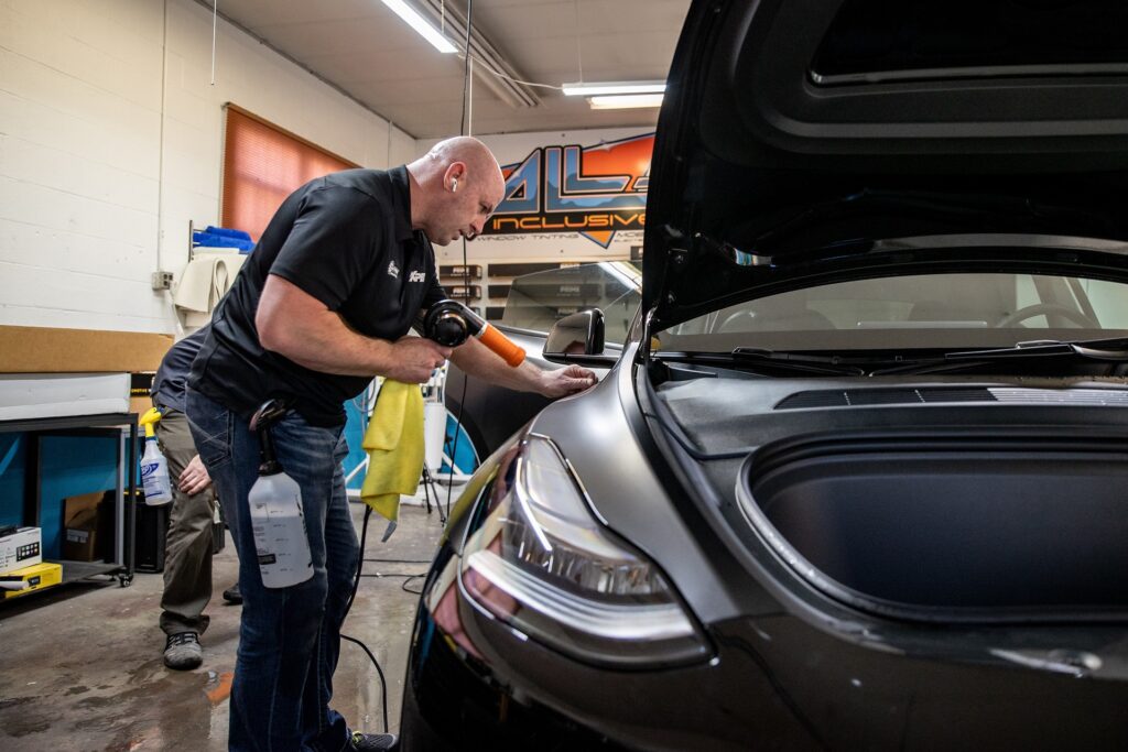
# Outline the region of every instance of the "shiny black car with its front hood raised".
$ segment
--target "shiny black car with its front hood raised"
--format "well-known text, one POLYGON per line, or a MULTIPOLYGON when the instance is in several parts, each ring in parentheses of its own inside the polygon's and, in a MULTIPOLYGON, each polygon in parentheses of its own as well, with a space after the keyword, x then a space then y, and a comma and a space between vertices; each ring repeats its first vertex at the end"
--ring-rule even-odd
POLYGON ((1128 749, 1126 21, 693 5, 638 315, 549 331, 609 371, 458 502, 404 749, 1128 749))

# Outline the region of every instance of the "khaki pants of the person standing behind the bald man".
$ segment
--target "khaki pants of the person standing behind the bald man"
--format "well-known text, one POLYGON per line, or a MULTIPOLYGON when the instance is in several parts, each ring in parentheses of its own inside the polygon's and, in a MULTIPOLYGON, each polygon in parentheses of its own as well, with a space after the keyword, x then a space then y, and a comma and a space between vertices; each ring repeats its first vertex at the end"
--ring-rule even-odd
POLYGON ((157 423, 157 442, 168 460, 173 484, 171 517, 165 541, 165 593, 160 599, 160 628, 166 635, 182 631, 203 634, 209 618, 204 607, 211 600, 212 520, 215 495, 209 486, 188 496, 177 487, 180 472, 196 455, 188 419, 179 410, 162 410, 157 423))

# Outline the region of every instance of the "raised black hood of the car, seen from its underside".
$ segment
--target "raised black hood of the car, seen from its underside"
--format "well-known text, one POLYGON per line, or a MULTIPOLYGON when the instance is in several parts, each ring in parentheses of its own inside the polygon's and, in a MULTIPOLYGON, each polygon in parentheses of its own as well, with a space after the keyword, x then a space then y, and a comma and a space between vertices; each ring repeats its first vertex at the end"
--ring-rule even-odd
POLYGON ((694 2, 651 168, 651 327, 893 265, 1123 277, 1123 21, 1122 2, 694 2), (919 240, 945 237, 964 240, 919 240))

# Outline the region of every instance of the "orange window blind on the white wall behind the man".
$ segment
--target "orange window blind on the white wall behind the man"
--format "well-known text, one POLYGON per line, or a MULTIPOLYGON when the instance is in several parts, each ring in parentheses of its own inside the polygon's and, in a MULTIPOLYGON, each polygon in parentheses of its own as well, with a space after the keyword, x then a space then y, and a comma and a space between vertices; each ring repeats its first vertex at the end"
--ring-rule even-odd
POLYGON ((227 105, 223 140, 223 227, 258 237, 298 186, 358 165, 227 105))

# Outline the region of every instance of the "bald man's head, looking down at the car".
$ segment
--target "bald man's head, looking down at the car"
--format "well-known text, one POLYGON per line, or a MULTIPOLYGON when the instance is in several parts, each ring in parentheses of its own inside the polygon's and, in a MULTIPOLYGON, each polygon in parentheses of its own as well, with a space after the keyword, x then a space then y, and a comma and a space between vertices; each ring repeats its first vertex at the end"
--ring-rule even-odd
POLYGON ((477 139, 437 143, 407 166, 412 178, 412 227, 437 246, 473 239, 505 192, 497 160, 477 139))

